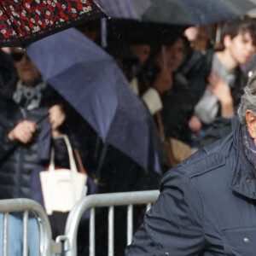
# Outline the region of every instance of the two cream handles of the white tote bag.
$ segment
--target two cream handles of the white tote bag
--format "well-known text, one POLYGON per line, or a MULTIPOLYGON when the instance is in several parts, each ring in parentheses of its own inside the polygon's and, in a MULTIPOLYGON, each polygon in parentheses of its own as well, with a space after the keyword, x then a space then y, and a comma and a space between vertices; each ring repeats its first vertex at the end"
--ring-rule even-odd
MULTIPOLYGON (((61 137, 64 139, 67 145, 67 153, 68 153, 71 172, 78 172, 78 168, 73 157, 73 150, 72 150, 72 146, 69 141, 69 138, 67 137, 67 135, 61 135, 61 137)), ((54 171, 55 171, 55 148, 52 147, 50 150, 49 172, 54 172, 54 171)))

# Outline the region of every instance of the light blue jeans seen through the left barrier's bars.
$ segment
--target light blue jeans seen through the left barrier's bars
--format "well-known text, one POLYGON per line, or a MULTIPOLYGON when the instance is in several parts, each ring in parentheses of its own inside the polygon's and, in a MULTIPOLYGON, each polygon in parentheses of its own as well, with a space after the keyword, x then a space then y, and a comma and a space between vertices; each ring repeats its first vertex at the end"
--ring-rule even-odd
MULTIPOLYGON (((28 252, 39 256, 39 229, 36 218, 28 219, 28 252)), ((22 213, 9 214, 8 255, 21 256, 23 243, 22 213)), ((3 213, 0 213, 0 256, 3 256, 3 213)))

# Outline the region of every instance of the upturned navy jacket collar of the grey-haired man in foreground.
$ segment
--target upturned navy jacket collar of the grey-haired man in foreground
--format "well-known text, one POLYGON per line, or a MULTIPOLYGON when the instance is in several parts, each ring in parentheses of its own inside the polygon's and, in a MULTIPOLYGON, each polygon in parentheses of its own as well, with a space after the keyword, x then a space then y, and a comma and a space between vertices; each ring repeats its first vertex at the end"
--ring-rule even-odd
POLYGON ((241 125, 236 126, 233 143, 236 148, 235 172, 230 187, 236 193, 256 199, 256 179, 253 166, 247 160, 241 139, 241 125))

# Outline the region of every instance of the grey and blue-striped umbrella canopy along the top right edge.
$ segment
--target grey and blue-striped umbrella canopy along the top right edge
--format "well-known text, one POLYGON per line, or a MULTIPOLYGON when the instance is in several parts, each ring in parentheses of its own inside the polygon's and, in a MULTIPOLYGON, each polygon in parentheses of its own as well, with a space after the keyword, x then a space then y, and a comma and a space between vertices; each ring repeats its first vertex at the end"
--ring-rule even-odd
POLYGON ((172 25, 207 25, 239 19, 255 8, 249 0, 96 0, 110 17, 172 25))

